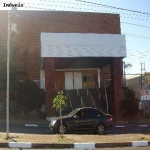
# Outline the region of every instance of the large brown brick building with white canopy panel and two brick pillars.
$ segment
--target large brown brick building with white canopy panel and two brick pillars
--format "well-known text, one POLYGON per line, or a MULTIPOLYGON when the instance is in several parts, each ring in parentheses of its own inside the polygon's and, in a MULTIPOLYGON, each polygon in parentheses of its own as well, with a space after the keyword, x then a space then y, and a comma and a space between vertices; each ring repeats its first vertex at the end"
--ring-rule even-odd
MULTIPOLYGON (((20 34, 11 35, 19 51, 18 69, 26 80, 39 82, 46 91, 47 117, 55 115, 55 90, 104 89, 111 80, 110 109, 121 115, 122 59, 125 36, 118 14, 89 12, 19 11, 12 19, 20 34), (24 52, 27 51, 25 58, 24 52)), ((7 41, 7 11, 0 11, 1 44, 7 41)), ((20 76, 20 80, 23 78, 20 76)), ((102 93, 102 96, 105 93, 102 93)), ((101 96, 101 97, 102 97, 101 96)))

